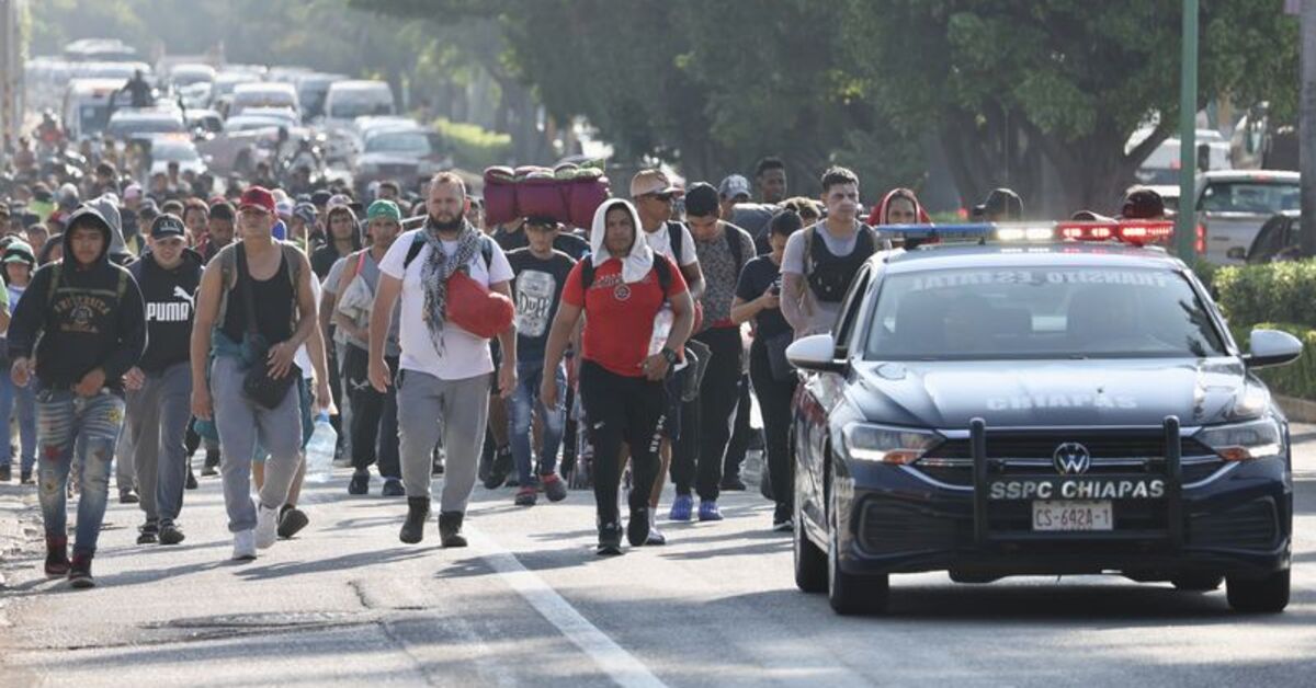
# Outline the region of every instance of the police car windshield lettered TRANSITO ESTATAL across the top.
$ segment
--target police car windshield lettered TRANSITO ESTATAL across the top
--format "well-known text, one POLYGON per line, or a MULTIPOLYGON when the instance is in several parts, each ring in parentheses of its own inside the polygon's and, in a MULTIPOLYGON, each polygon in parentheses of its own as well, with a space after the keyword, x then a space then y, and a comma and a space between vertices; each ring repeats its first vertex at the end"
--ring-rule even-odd
POLYGON ((1016 267, 887 276, 866 358, 1205 358, 1224 342, 1169 270, 1016 267))

